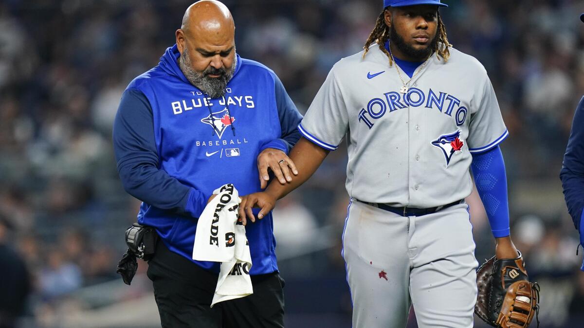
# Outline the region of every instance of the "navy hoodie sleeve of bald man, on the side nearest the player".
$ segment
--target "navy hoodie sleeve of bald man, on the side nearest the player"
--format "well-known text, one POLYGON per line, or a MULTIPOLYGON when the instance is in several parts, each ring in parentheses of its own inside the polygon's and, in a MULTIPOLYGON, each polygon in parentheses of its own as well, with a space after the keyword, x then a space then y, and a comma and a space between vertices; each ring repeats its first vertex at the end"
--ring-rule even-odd
POLYGON ((267 144, 263 145, 260 148, 260 152, 262 152, 266 148, 276 148, 280 149, 281 151, 288 154, 290 149, 298 139, 300 139, 300 131, 298 131, 298 124, 302 121, 302 115, 298 113, 298 109, 296 105, 288 96, 286 89, 284 89, 284 85, 274 74, 274 92, 276 93, 276 106, 278 109, 278 118, 280 119, 280 126, 281 126, 281 138, 274 139, 267 144))

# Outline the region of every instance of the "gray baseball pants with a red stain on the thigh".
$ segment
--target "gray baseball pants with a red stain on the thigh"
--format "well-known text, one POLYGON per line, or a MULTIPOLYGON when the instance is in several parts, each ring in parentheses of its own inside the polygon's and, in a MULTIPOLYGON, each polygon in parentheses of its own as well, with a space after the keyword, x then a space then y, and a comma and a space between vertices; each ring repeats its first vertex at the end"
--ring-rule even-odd
POLYGON ((343 258, 354 328, 472 327, 477 301, 475 243, 467 204, 402 217, 352 200, 343 258))

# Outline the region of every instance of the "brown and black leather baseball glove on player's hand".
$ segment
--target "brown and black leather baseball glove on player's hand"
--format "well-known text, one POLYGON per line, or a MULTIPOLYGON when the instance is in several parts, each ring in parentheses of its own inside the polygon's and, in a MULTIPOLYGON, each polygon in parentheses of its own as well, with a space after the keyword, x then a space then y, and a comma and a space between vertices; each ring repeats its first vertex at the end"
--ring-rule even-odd
MULTIPOLYGON (((539 285, 530 282, 521 254, 517 259, 493 256, 477 271, 475 313, 493 327, 528 327, 539 312, 539 285)), ((537 318, 537 325, 540 322, 537 318)))

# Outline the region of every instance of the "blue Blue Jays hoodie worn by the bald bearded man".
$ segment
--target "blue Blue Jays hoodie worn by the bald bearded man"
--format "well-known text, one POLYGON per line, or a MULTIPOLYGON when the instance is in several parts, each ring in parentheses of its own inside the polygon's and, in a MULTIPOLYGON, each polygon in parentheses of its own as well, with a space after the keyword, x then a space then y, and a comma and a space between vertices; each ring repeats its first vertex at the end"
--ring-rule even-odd
MULTIPOLYGON (((168 48, 157 67, 138 76, 121 98, 113 128, 124 189, 142 201, 138 222, 154 226, 173 252, 192 260, 197 218, 225 183, 240 195, 260 191, 256 158, 266 148, 288 152, 302 119, 276 74, 237 56, 222 99, 194 87, 168 48)), ((256 212, 257 213, 257 212, 256 212)), ((277 271, 272 213, 246 226, 250 274, 277 271)))

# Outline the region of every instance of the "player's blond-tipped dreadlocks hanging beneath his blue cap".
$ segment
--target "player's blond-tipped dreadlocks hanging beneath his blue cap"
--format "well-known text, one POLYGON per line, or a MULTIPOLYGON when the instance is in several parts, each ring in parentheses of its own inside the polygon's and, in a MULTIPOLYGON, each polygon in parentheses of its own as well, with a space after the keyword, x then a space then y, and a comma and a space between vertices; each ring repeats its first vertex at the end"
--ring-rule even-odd
MULTIPOLYGON (((393 61, 391 60, 391 55, 390 53, 387 51, 387 49, 385 49, 384 45, 385 45, 385 41, 387 41, 388 39, 390 39, 390 27, 385 25, 385 10, 384 9, 381 14, 379 15, 379 17, 377 18, 377 21, 375 22, 375 27, 373 27, 373 31, 371 31, 371 34, 369 34, 369 37, 367 38, 367 41, 365 42, 365 46, 363 47, 363 49, 365 50, 365 52, 363 53, 363 58, 365 58, 365 55, 367 54, 367 51, 369 51, 369 46, 371 46, 371 44, 373 43, 377 43, 379 44, 379 48, 381 51, 383 51, 383 53, 385 55, 387 55, 387 57, 390 59, 390 66, 393 65, 393 61)), ((444 26, 444 23, 442 22, 442 17, 440 17, 440 12, 437 13, 437 19, 438 19, 438 32, 440 33, 439 37, 437 37, 436 39, 434 39, 434 43, 432 44, 432 51, 436 52, 436 57, 440 60, 440 57, 444 58, 444 62, 448 61, 448 58, 450 57, 450 50, 449 47, 452 47, 452 44, 450 44, 448 42, 448 38, 446 37, 446 27, 444 26)))

